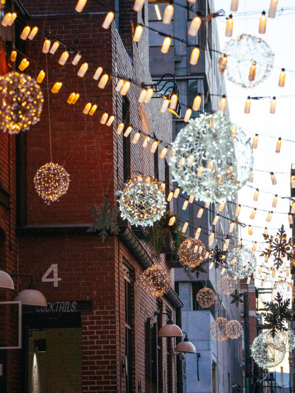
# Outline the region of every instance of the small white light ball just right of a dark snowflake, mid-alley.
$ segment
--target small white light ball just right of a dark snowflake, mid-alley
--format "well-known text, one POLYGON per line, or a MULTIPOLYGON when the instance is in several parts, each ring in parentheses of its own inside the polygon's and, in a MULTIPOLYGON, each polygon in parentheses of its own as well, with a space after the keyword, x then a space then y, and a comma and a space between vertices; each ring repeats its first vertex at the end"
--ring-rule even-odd
POLYGON ((251 276, 256 269, 256 258, 251 250, 237 247, 228 256, 228 269, 239 279, 251 276))

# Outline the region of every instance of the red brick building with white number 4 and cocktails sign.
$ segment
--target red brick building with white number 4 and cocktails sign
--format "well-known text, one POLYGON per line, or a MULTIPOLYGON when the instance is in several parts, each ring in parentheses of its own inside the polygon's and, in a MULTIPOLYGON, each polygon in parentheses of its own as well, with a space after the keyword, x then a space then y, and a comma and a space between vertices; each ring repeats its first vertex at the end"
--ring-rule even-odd
MULTIPOLYGON (((130 177, 139 172, 155 175, 161 182, 166 179, 169 187, 167 165, 158 159, 158 149, 153 155, 151 143, 149 148, 142 146, 145 134, 167 143, 172 140, 171 114, 160 113, 159 100, 138 103, 141 83, 151 83, 148 30, 139 43, 133 42, 130 15, 133 23, 143 22, 148 10, 137 14, 132 11, 133 1, 120 1, 119 17, 116 13, 112 26, 105 30, 102 22, 110 9, 118 7, 117 2, 100 5, 89 0, 81 14, 74 11, 75 0, 23 1, 23 5, 29 16, 23 11, 16 21, 16 37, 26 24, 37 25, 52 42, 60 40, 72 50, 61 66, 62 45, 55 55, 45 55, 41 34, 32 41, 17 40, 18 49, 30 60, 26 73, 36 77, 43 69, 48 76, 49 106, 44 79, 40 122, 16 137, 0 134, 1 249, 5 255, 0 267, 9 274, 31 275, 48 307, 33 312, 23 307, 23 348, 4 351, 3 392, 176 392, 175 339, 157 340, 157 329, 166 324, 166 317, 154 316, 157 311, 169 312, 175 321, 182 307, 165 255, 155 258, 126 222, 120 221, 118 236, 109 236, 103 244, 97 233, 87 233, 93 222, 89 208, 106 196, 115 206, 116 191, 130 177), (89 62, 84 78, 77 76, 83 58, 77 66, 71 64, 78 51, 89 62), (97 87, 92 79, 97 66, 135 82, 126 97, 115 92, 117 76, 104 89, 97 87), (53 94, 50 90, 57 81, 62 87, 53 94), (80 93, 75 105, 66 102, 72 91, 80 93), (89 101, 99 106, 93 116, 83 114, 89 101), (105 111, 115 115, 111 127, 100 124, 105 111), (134 131, 128 138, 116 134, 121 121, 125 128, 129 123, 142 131, 136 145, 131 143, 134 131), (33 177, 51 160, 50 132, 52 161, 66 169, 71 181, 67 193, 48 206, 35 192, 33 177), (156 261, 171 275, 171 288, 159 299, 148 295, 139 282, 143 270, 156 261), (44 281, 47 271, 53 274, 52 265, 54 277, 49 275, 52 281, 44 281), (46 353, 36 350, 39 339, 46 339, 46 353)), ((21 59, 18 54, 17 64, 21 59)), ((3 68, 1 73, 5 72, 3 68)), ((15 279, 16 290, 28 283, 27 278, 15 279)), ((6 320, 9 335, 15 326, 6 320)), ((3 342, 7 342, 5 337, 3 342)))

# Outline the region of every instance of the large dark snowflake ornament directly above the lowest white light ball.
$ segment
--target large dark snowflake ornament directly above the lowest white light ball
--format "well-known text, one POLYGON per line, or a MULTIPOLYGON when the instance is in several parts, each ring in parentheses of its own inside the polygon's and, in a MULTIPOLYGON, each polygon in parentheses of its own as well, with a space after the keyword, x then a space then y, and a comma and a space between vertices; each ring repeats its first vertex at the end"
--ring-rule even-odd
POLYGON ((274 302, 266 302, 265 307, 267 312, 262 313, 266 322, 264 329, 269 329, 272 337, 278 331, 288 330, 287 322, 292 320, 290 299, 283 301, 282 295, 278 292, 274 302))

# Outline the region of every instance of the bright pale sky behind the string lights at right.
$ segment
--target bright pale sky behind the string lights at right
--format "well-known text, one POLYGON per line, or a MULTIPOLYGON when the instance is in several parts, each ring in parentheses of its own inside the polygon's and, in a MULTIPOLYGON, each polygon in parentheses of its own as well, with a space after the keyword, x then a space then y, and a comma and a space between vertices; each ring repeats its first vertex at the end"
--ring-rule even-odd
MULTIPOLYGON (((289 228, 288 212, 289 200, 278 198, 276 208, 272 208, 274 194, 278 196, 290 196, 290 168, 295 164, 295 143, 282 140, 281 152, 275 153, 277 139, 279 137, 289 140, 295 140, 295 96, 288 98, 279 98, 295 94, 295 1, 279 0, 276 16, 274 19, 267 18, 266 33, 259 34, 259 19, 261 12, 266 10, 266 16, 270 0, 239 0, 237 12, 231 12, 231 0, 215 0, 215 10, 224 9, 226 16, 233 14, 234 28, 232 38, 246 33, 262 38, 274 53, 274 67, 268 78, 252 88, 242 88, 226 80, 227 100, 230 109, 231 120, 239 125, 248 137, 253 138, 255 134, 259 135, 258 147, 254 150, 254 179, 253 183, 247 183, 255 188, 259 188, 260 193, 258 201, 253 200, 255 189, 243 187, 238 193, 238 202, 241 205, 247 205, 251 208, 241 208, 239 219, 242 223, 253 227, 253 235, 248 235, 248 226, 241 229, 241 237, 244 245, 252 247, 252 242, 263 242, 263 228, 267 226, 268 233, 275 234, 277 228, 282 224, 287 229, 287 236, 291 237, 289 228), (293 8, 281 12, 281 8, 293 8), (251 13, 257 11, 255 15, 246 17, 238 16, 241 12, 251 13), (236 17, 235 17, 236 15, 236 17), (277 67, 277 68, 276 68, 277 67), (284 87, 278 86, 279 74, 281 68, 286 69, 286 82, 284 87), (290 70, 290 71, 287 71, 290 70), (291 72, 293 71, 293 72, 291 72), (252 100, 249 114, 244 113, 244 106, 247 96, 277 96, 276 111, 274 114, 269 113, 270 99, 252 100), (274 138, 270 138, 270 136, 274 138), (258 170, 264 170, 260 172, 258 170), (272 185, 270 173, 274 172, 277 185, 272 185), (285 174, 280 174, 283 172, 285 174), (266 191, 267 193, 263 193, 266 191), (254 220, 250 220, 250 214, 253 208, 257 208, 257 214, 254 220), (259 209, 273 211, 270 223, 266 222, 268 212, 259 211, 259 209), (278 214, 282 212, 285 214, 278 214), (260 226, 262 228, 256 228, 260 226), (250 241, 250 242, 248 242, 250 241)), ((226 20, 217 18, 217 27, 219 33, 220 47, 223 51, 225 43, 231 38, 225 37, 226 20)), ((255 60, 255 56, 253 57, 255 60)), ((263 247, 258 244, 257 250, 263 247)), ((259 253, 256 252, 259 260, 259 253)), ((259 261, 258 261, 259 264, 259 261)), ((269 286, 269 283, 268 283, 269 286)), ((282 364, 281 364, 282 365, 282 364)), ((284 371, 289 372, 288 358, 285 357, 283 362, 284 371)), ((277 371, 280 365, 277 367, 277 371)))

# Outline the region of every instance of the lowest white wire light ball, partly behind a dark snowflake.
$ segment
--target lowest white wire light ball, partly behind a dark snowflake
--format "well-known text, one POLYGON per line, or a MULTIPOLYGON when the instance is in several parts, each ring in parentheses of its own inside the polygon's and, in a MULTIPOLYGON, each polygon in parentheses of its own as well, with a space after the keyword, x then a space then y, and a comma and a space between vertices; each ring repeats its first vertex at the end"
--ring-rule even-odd
POLYGON ((286 348, 283 346, 281 349, 271 348, 267 342, 267 335, 269 332, 261 333, 258 335, 251 347, 251 356, 254 361, 263 368, 270 368, 279 365, 285 357, 286 348))

